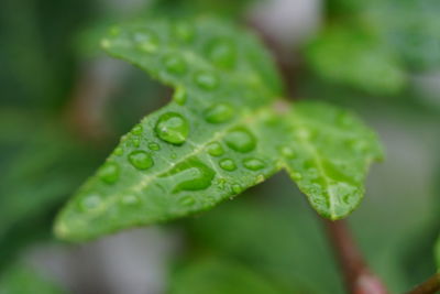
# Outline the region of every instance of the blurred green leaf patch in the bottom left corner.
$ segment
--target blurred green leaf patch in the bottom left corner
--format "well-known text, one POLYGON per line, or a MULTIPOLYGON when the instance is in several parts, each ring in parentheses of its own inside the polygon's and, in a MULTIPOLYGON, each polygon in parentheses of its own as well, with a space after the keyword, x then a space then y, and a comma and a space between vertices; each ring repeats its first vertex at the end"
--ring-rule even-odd
POLYGON ((58 285, 24 264, 14 264, 0 276, 0 294, 62 294, 58 285))

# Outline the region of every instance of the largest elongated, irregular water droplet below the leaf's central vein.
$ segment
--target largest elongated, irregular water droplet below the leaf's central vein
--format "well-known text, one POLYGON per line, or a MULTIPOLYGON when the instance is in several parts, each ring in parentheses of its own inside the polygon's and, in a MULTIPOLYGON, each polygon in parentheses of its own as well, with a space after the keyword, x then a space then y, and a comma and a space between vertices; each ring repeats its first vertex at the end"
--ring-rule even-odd
POLYGON ((177 183, 173 192, 206 189, 211 185, 215 171, 208 167, 198 159, 190 159, 179 163, 172 171, 161 177, 168 178, 172 183, 177 183))

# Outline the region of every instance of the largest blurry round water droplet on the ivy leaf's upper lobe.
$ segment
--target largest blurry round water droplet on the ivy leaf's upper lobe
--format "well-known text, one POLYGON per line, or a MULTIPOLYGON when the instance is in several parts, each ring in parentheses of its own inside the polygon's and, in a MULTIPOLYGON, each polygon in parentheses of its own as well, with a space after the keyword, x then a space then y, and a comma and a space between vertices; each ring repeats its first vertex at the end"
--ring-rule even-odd
POLYGON ((233 68, 237 63, 237 47, 232 40, 219 37, 207 46, 208 58, 217 66, 233 68))

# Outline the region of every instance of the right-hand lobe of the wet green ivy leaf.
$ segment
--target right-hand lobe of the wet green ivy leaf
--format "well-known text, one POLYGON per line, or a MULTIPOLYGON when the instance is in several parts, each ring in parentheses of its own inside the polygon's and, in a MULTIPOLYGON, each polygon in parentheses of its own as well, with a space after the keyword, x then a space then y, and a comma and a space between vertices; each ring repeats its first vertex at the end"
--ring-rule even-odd
POLYGON ((288 116, 286 168, 311 206, 330 219, 360 204, 370 164, 382 159, 374 132, 346 110, 299 102, 288 116))

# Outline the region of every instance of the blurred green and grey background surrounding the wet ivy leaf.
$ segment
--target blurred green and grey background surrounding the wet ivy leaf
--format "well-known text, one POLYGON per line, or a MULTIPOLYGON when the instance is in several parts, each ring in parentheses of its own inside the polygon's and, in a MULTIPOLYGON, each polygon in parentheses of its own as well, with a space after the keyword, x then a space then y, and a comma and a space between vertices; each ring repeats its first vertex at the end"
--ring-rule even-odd
POLYGON ((285 174, 211 211, 85 244, 52 236, 61 205, 172 91, 103 55, 111 23, 210 13, 276 55, 289 99, 352 108, 386 161, 349 217, 392 293, 436 271, 440 228, 437 0, 2 0, 0 293, 344 293, 322 222, 285 174))

